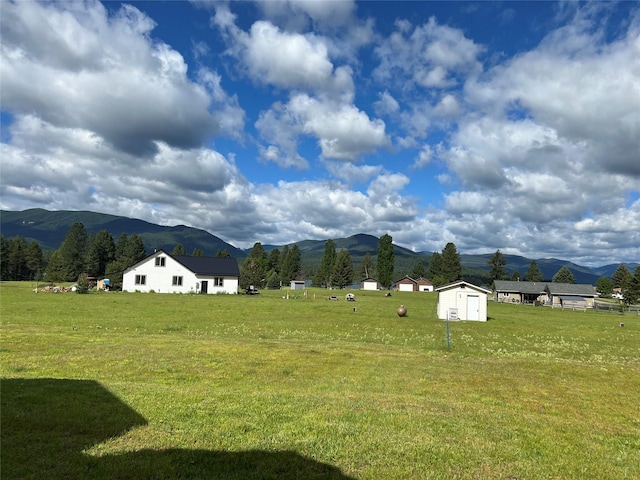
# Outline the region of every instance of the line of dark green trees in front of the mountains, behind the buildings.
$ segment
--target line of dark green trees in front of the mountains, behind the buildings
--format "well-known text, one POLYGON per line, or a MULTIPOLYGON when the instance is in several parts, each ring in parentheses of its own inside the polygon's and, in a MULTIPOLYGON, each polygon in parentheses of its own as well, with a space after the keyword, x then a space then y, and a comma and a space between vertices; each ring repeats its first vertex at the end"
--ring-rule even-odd
MULTIPOLYGON (((2 280, 38 280, 50 283, 76 282, 86 278, 109 278, 116 288, 121 285, 124 270, 147 256, 142 238, 137 234, 120 234, 114 240, 107 230, 93 234, 87 232, 82 222, 75 222, 68 230, 61 245, 52 252, 41 248, 36 241, 27 242, 24 237, 4 238, 0 235, 0 278, 2 280)), ((196 248, 188 253, 182 244, 176 244, 172 255, 203 256, 196 248)), ((218 250, 215 256, 230 257, 227 249, 218 250)), ((375 255, 367 252, 357 265, 348 249, 337 249, 333 240, 325 242, 324 254, 319 262, 304 262, 297 244, 285 245, 267 251, 256 242, 240 262, 240 287, 280 288, 292 280, 312 280, 313 286, 344 288, 375 278, 382 288, 389 289, 395 280, 405 275, 414 279, 426 278, 434 286, 465 279, 472 283, 491 286, 495 280, 543 281, 543 275, 535 260, 521 276, 509 274, 506 259, 500 250, 488 263, 488 275, 464 272, 455 244, 447 243, 442 252, 434 252, 426 262, 417 260, 407 271, 399 269, 390 235, 383 235, 375 255), (425 264, 426 263, 426 264, 425 264)), ((551 280, 560 283, 576 283, 571 270, 561 267, 551 280)), ((631 273, 620 264, 613 275, 598 279, 596 289, 601 295, 614 291, 624 293, 629 301, 640 299, 640 267, 631 273), (619 290, 618 290, 619 289, 619 290), (633 298, 632 298, 633 297, 633 298)))

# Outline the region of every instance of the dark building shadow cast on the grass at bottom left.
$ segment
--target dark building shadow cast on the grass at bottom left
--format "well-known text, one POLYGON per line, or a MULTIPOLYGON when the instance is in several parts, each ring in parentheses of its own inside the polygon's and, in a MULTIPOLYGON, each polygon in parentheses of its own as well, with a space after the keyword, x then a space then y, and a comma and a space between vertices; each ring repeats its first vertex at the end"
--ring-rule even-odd
POLYGON ((338 479, 296 452, 141 450, 93 457, 96 443, 147 425, 95 381, 3 379, 0 472, 9 479, 338 479))

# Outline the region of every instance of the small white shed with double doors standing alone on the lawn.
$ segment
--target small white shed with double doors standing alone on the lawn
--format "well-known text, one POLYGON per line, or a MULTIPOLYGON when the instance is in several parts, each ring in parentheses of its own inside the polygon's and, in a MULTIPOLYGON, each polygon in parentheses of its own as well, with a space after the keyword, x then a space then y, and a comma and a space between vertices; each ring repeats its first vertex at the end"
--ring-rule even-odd
POLYGON ((438 292, 438 318, 445 320, 447 314, 458 320, 487 321, 487 296, 491 290, 460 280, 436 288, 438 292))

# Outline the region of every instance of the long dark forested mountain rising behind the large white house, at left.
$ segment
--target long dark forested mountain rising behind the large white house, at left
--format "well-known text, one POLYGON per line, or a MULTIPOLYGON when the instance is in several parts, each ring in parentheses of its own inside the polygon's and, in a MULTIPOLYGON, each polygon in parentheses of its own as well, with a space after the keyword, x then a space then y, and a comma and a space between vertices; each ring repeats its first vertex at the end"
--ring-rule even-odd
POLYGON ((198 248, 205 255, 215 255, 218 250, 224 249, 227 249, 232 257, 246 255, 243 250, 205 230, 185 225, 165 227, 144 220, 87 211, 49 211, 40 208, 21 212, 0 211, 0 228, 3 236, 25 237, 28 242, 38 242, 43 250, 59 248, 69 228, 75 222, 81 222, 88 233, 95 234, 101 230, 107 230, 114 240, 117 240, 122 233, 127 235, 137 233, 149 253, 155 249, 171 252, 177 244, 181 243, 187 253, 198 248))

